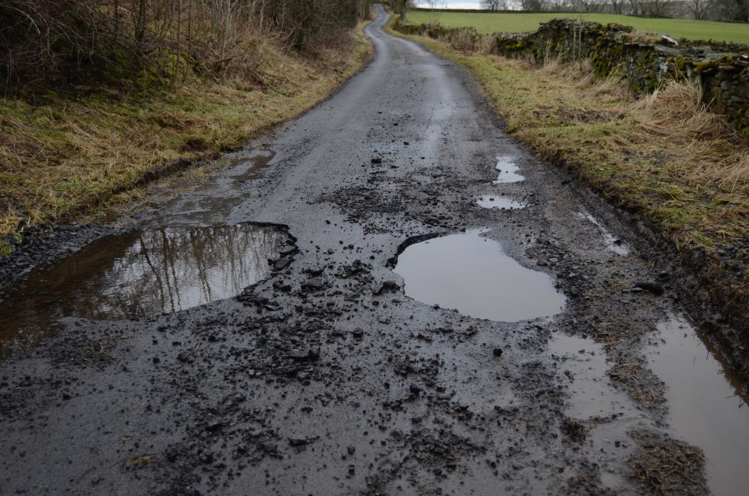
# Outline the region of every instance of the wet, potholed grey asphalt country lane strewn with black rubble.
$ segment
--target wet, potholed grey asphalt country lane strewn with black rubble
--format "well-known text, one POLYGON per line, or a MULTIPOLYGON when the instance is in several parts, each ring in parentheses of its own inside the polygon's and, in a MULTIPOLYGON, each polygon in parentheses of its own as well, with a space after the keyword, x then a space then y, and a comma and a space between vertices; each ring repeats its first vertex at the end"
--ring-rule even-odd
POLYGON ((385 20, 201 188, 18 255, 117 231, 16 281, 91 304, 2 303, 55 323, 5 325, 0 494, 742 494, 745 398, 652 248, 385 20))

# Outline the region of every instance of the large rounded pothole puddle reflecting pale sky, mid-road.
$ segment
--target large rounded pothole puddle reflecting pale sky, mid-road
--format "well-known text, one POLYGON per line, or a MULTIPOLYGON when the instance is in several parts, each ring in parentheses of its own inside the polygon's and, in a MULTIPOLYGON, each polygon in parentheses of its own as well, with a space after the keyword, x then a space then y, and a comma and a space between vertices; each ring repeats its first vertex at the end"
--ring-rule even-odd
POLYGON ((429 239, 407 247, 393 269, 406 296, 503 322, 560 313, 565 296, 544 272, 506 255, 482 230, 429 239))

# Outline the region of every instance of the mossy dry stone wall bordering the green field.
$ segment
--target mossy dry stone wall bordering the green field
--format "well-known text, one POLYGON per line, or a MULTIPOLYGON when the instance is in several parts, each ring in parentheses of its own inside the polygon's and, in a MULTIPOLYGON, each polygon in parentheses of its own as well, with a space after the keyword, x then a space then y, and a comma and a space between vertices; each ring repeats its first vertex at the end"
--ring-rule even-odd
POLYGON ((532 33, 478 34, 473 28, 400 22, 395 29, 445 39, 459 49, 489 45, 497 55, 536 63, 589 58, 596 76, 621 76, 637 93, 655 91, 667 79, 697 80, 703 101, 749 141, 749 46, 643 37, 628 26, 572 19, 552 19, 532 33))

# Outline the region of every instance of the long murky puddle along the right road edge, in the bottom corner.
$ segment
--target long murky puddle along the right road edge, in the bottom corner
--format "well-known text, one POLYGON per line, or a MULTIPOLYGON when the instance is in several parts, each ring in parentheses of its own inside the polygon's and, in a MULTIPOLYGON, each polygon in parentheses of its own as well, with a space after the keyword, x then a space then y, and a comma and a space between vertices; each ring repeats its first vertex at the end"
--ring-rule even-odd
POLYGON ((703 449, 714 495, 743 496, 749 488, 749 398, 681 316, 658 324, 646 353, 666 383, 668 421, 674 438, 703 449))

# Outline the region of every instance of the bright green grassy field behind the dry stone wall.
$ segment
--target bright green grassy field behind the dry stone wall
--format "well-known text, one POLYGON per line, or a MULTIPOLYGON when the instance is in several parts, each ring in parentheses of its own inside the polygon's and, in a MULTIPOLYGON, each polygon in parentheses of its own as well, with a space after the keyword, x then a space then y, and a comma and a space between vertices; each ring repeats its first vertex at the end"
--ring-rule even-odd
MULTIPOLYGON (((555 17, 577 14, 561 13, 458 13, 413 11, 408 14, 408 22, 440 22, 452 28, 473 26, 481 33, 536 31, 539 23, 555 17)), ((583 19, 607 24, 634 26, 643 33, 668 34, 676 38, 691 40, 733 41, 749 44, 749 24, 716 21, 695 21, 694 19, 644 19, 641 17, 617 16, 605 13, 585 13, 583 19)))

